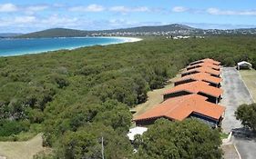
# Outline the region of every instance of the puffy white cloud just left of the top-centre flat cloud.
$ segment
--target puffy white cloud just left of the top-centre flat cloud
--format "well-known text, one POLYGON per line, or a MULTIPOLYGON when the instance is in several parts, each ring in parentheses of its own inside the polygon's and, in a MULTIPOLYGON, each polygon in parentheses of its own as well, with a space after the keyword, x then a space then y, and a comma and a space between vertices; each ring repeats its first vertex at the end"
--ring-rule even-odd
POLYGON ((69 8, 72 12, 102 12, 105 8, 102 5, 74 6, 69 8))

